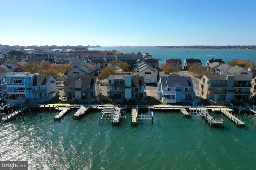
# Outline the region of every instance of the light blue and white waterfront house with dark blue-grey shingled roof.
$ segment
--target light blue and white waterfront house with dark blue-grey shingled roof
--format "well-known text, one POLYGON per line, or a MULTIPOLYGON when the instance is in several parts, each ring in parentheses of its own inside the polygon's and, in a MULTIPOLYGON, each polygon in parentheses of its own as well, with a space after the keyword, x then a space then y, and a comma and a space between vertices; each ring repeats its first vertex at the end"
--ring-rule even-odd
POLYGON ((177 102, 192 103, 196 99, 191 77, 160 77, 157 88, 156 98, 162 100, 164 104, 177 102))

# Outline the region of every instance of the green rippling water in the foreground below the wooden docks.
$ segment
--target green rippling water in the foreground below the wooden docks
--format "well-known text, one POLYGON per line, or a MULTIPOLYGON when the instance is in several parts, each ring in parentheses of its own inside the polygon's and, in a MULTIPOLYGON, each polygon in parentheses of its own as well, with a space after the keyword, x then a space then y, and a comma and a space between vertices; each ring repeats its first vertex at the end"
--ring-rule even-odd
POLYGON ((214 118, 224 119, 224 127, 170 111, 154 112, 153 124, 141 120, 136 127, 131 114, 123 113, 126 118, 114 127, 107 120, 99 123, 100 112, 80 120, 74 113, 54 121, 55 112, 36 111, 25 121, 20 117, 0 125, 0 160, 28 161, 28 169, 36 170, 256 168, 255 118, 244 120, 243 114, 245 127, 220 113, 214 118))

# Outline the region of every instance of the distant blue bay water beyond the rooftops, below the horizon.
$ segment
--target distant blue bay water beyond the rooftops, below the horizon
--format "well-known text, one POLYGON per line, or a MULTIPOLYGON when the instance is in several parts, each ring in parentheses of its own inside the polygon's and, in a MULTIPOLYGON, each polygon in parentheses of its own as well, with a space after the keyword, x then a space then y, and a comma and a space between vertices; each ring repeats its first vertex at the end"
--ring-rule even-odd
POLYGON ((165 60, 181 59, 184 64, 185 59, 200 59, 202 65, 206 64, 207 60, 211 58, 222 59, 225 63, 233 59, 250 60, 256 63, 256 50, 254 49, 165 49, 158 47, 98 47, 89 48, 88 50, 112 51, 116 50, 120 53, 149 53, 152 57, 162 59, 159 65, 163 64, 165 60))

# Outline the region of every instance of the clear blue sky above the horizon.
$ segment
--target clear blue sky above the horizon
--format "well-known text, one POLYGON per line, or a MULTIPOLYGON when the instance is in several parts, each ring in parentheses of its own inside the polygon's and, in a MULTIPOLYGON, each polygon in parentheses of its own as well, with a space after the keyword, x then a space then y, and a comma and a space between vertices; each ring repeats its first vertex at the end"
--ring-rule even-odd
POLYGON ((256 45, 256 0, 1 0, 2 45, 256 45))

